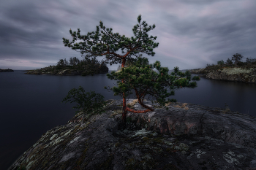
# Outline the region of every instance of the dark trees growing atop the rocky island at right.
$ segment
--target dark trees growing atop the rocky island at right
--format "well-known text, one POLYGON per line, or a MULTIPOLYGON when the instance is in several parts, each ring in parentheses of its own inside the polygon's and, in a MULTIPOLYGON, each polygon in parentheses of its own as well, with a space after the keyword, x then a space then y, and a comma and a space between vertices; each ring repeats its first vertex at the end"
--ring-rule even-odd
MULTIPOLYGON (((239 65, 243 65, 243 62, 241 62, 241 58, 244 58, 243 55, 236 53, 233 55, 233 57, 231 58, 227 58, 227 61, 224 62, 223 60, 218 61, 217 64, 220 66, 239 66, 239 65), (234 63, 233 63, 234 61, 234 63)), ((245 63, 256 63, 256 58, 246 58, 245 63)), ((210 64, 207 64, 207 66, 211 66, 210 64)), ((212 66, 214 66, 214 64, 212 64, 212 66)))

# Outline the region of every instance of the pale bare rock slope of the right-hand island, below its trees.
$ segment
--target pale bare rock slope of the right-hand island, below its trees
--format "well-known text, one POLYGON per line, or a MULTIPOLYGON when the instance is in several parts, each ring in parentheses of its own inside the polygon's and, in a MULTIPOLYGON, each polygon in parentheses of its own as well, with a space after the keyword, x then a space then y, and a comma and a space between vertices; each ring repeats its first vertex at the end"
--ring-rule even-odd
POLYGON ((202 77, 213 80, 226 80, 233 82, 256 83, 256 68, 222 68, 215 71, 195 69, 192 74, 203 74, 202 77))

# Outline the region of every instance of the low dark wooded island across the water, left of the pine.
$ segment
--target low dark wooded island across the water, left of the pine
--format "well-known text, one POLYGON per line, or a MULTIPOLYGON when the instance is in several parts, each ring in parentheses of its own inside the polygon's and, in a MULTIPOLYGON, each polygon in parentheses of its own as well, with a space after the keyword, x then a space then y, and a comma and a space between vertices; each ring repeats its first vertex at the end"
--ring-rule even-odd
POLYGON ((61 59, 56 66, 48 66, 41 69, 25 70, 25 74, 52 74, 52 75, 94 75, 100 73, 108 73, 108 67, 104 62, 99 63, 95 58, 83 59, 78 58, 61 59))

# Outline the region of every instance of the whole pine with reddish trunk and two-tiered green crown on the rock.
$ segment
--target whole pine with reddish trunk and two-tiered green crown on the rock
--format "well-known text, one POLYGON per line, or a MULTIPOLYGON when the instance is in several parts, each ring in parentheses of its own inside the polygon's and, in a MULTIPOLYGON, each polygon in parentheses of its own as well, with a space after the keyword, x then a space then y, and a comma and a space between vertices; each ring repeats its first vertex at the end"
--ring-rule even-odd
MULTIPOLYGON (((141 15, 138 16, 138 23, 140 24, 141 15)), ((121 63, 121 72, 115 73, 111 72, 112 75, 108 74, 110 79, 120 80, 118 81, 118 88, 114 87, 113 91, 115 95, 120 95, 123 98, 123 112, 122 112, 122 120, 124 125, 126 124, 126 115, 127 111, 130 112, 148 112, 152 110, 152 108, 147 107, 143 104, 143 98, 146 93, 154 94, 157 97, 157 102, 160 104, 167 103, 169 101, 174 101, 168 99, 165 101, 165 97, 174 95, 174 92, 167 93, 167 90, 163 89, 166 85, 172 90, 175 86, 178 87, 196 87, 196 82, 189 83, 191 77, 189 72, 183 74, 178 72, 178 67, 175 68, 175 73, 172 73, 172 76, 167 74, 168 69, 160 67, 160 62, 157 61, 153 65, 142 64, 143 62, 148 62, 145 58, 142 59, 137 55, 138 53, 146 53, 148 55, 154 56, 153 49, 158 47, 159 43, 154 43, 154 40, 157 39, 157 36, 148 37, 147 32, 151 29, 155 28, 148 26, 146 21, 143 21, 142 24, 135 25, 132 29, 135 34, 135 38, 132 36, 131 38, 120 36, 119 33, 113 34, 112 28, 107 28, 105 31, 105 26, 103 26, 102 21, 99 22, 100 28, 103 29, 99 34, 99 26, 96 26, 97 30, 89 32, 87 35, 80 35, 80 29, 78 28, 78 32, 72 32, 71 28, 69 33, 73 36, 72 42, 69 42, 69 39, 64 39, 64 46, 72 47, 72 50, 80 50, 80 53, 89 53, 85 56, 85 58, 96 57, 106 55, 105 63, 110 63, 110 66, 113 63, 121 63), (143 25, 143 28, 141 28, 143 25), (148 27, 147 27, 148 26, 148 27), (138 28, 140 27, 140 28, 138 28), (141 31, 143 29, 143 31, 141 31), (102 39, 99 39, 99 36, 102 35, 102 39), (75 40, 82 40, 84 42, 75 43, 75 40), (90 39, 93 39, 90 41, 90 39), (138 40, 138 41, 137 41, 138 40), (87 43, 87 44, 86 44, 87 43), (74 44, 74 45, 72 45, 74 44), (116 53, 121 48, 122 53, 124 52, 124 48, 127 49, 127 52, 124 55, 119 55, 116 53), (134 55, 136 58, 132 58, 134 55), (128 66, 127 69, 124 69, 125 63, 136 62, 136 66, 128 66), (156 72, 151 72, 151 69, 157 68, 160 74, 156 72), (180 77, 177 77, 179 75, 180 77), (182 78, 187 76, 185 78, 182 78), (144 111, 134 111, 127 107, 126 105, 126 97, 127 94, 130 93, 131 89, 134 89, 136 92, 136 96, 138 98, 138 102, 146 108, 144 111), (138 90, 139 89, 139 90, 138 90), (148 90, 150 90, 148 92, 148 90), (159 94, 159 96, 157 96, 159 94)))

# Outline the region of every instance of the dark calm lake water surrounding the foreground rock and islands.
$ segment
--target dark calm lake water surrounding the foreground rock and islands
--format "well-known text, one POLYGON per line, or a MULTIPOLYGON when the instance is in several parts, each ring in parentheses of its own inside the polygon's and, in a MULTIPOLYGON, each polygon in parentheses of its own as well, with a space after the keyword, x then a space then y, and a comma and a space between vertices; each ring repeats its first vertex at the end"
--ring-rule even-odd
MULTIPOLYGON (((110 71, 112 72, 112 71, 110 71)), ((110 73, 109 72, 109 73, 110 73)), ((192 74, 195 76, 195 74, 192 74)), ((104 86, 115 86, 106 74, 94 76, 31 75, 22 71, 0 73, 0 169, 7 169, 46 131, 64 125, 75 116, 75 103, 61 103, 72 88, 82 86, 108 99, 113 96, 104 86)), ((256 117, 256 84, 201 78, 197 88, 175 91, 178 102, 225 108, 256 117)), ((132 95, 134 96, 134 95, 132 95)), ((130 96, 130 98, 135 98, 130 96)))

